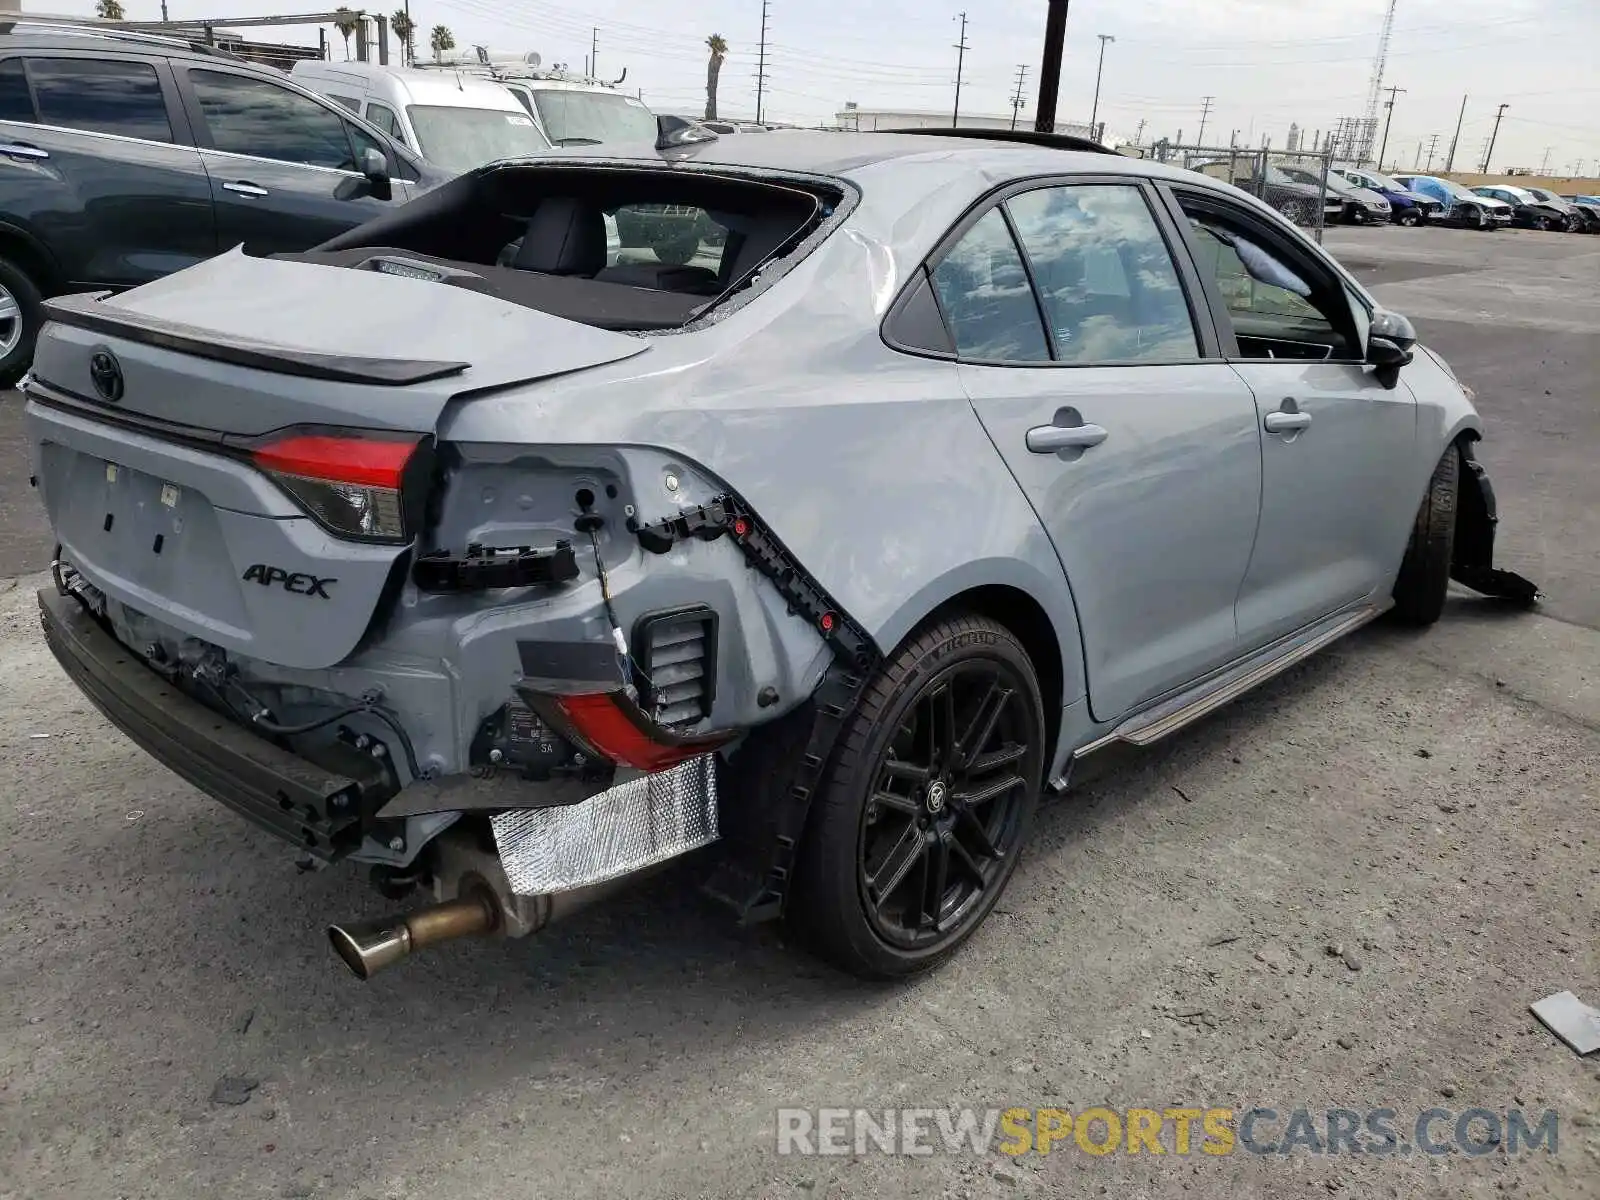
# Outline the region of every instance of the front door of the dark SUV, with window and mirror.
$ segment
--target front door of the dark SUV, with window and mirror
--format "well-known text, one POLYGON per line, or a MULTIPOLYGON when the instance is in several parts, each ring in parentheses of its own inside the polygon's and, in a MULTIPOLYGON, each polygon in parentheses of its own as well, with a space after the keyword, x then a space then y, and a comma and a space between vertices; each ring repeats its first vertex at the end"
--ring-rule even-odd
POLYGON ((218 242, 251 254, 309 250, 403 203, 387 147, 339 110, 253 74, 186 66, 179 78, 216 200, 218 242), (360 171, 389 162, 387 189, 360 171), (387 195, 384 194, 387 192, 387 195))

